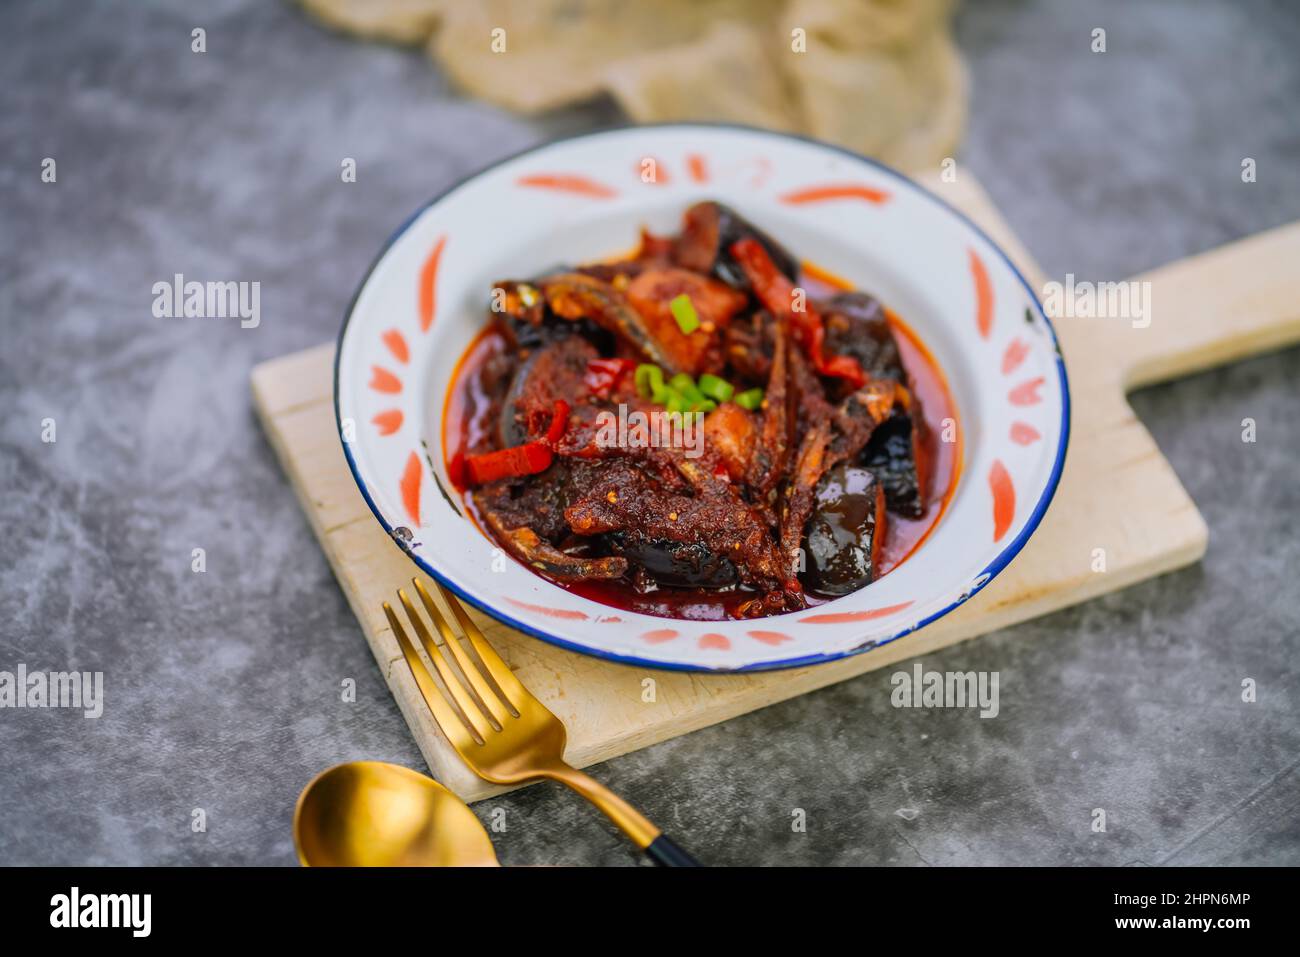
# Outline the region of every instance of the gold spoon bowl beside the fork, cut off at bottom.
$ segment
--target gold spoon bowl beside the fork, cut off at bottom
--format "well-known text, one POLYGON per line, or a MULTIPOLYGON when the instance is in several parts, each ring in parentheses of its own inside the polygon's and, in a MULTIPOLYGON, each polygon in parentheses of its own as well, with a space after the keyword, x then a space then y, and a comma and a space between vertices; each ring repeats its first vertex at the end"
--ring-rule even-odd
POLYGON ((354 761, 316 775, 294 809, 306 867, 497 867, 491 839, 459 797, 426 775, 354 761))

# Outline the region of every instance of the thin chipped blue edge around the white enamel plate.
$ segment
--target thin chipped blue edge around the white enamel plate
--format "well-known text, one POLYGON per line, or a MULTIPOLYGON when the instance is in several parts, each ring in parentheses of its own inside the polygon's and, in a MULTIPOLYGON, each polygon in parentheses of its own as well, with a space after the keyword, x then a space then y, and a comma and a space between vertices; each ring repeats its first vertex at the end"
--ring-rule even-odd
MULTIPOLYGON (((1061 341, 1057 338, 1056 329, 1052 325, 1052 320, 1049 320, 1048 315, 1043 311, 1043 303, 1039 302, 1039 296, 1037 294, 1035 294, 1034 287, 1030 286, 1028 280, 1024 278, 1019 268, 1017 268, 1015 263, 1011 261, 1010 256, 1006 255, 1002 247, 998 246, 992 239, 992 237, 988 235, 988 233, 980 229, 980 226, 961 209, 956 208, 945 199, 936 196, 933 192, 924 189, 920 183, 913 181, 906 174, 900 173, 893 166, 887 166, 879 160, 874 160, 870 156, 862 156, 861 153, 855 153, 852 150, 848 150, 841 146, 835 146, 833 143, 823 143, 822 140, 812 139, 811 137, 801 137, 796 133, 779 133, 776 130, 764 130, 757 126, 746 126, 744 124, 679 121, 679 122, 663 122, 663 124, 624 124, 618 126, 604 126, 597 130, 586 130, 584 133, 576 133, 571 137, 558 137, 556 139, 549 139, 545 143, 537 143, 525 150, 514 152, 510 156, 503 156, 502 159, 484 166, 482 169, 474 170, 473 173, 462 177, 455 183, 452 183, 442 192, 437 194, 436 196, 421 204, 415 212, 407 216, 406 220, 402 221, 402 225, 399 225, 393 231, 393 234, 385 241, 378 254, 376 254, 374 259, 370 261, 370 265, 367 267, 365 276, 361 277, 361 281, 356 286, 356 291, 352 293, 352 298, 351 300, 348 300, 347 311, 343 313, 343 325, 338 330, 338 342, 335 343, 334 347, 333 386, 334 386, 334 425, 338 429, 339 443, 343 446, 343 456, 347 459, 347 467, 352 472, 352 480, 356 482, 356 488, 361 490, 361 498, 365 499, 365 505, 369 506, 370 511, 374 514, 374 518, 378 519, 380 525, 384 527, 384 531, 389 533, 389 537, 391 537, 394 542, 396 542, 398 546, 402 547, 402 551, 407 555, 407 558, 410 558, 425 575, 432 576, 436 581, 442 584, 443 588, 451 590, 462 601, 469 602, 469 605, 478 609, 485 615, 490 615, 491 618, 495 618, 498 622, 502 622, 503 624, 507 624, 511 628, 515 628, 516 631, 521 631, 525 635, 530 635, 534 638, 540 638, 542 641, 546 641, 547 644, 556 645, 569 651, 592 655, 593 658, 603 658, 604 661, 618 662, 619 664, 634 664, 637 667, 644 667, 644 668, 658 668, 660 671, 694 671, 711 675, 740 675, 740 674, 753 674, 757 671, 780 671, 785 668, 800 668, 810 664, 826 664, 827 662, 840 661, 841 658, 852 658, 854 655, 871 651, 872 649, 883 648, 884 645, 889 645, 897 641, 898 638, 906 637, 907 635, 911 635, 913 632, 924 628, 931 622, 939 620, 948 612, 965 605, 967 601, 970 601, 982 590, 984 590, 984 586, 988 585, 988 583, 991 583, 993 579, 996 579, 998 573, 1001 573, 1001 571, 1006 568, 1008 564, 1011 563, 1011 559, 1020 553, 1020 550, 1024 547, 1024 544, 1030 540, 1030 536, 1032 536, 1034 532, 1037 531, 1039 524, 1043 521, 1043 516, 1046 514, 1048 506, 1052 505, 1052 499, 1056 495, 1057 486, 1061 484, 1061 471, 1065 467, 1065 455, 1066 450, 1070 446, 1070 382, 1065 372, 1065 359, 1061 355, 1061 341), (576 641, 569 641, 568 638, 563 638, 559 635, 551 635, 550 632, 545 632, 540 628, 534 628, 530 624, 519 622, 507 615, 506 612, 500 611, 499 609, 494 609, 486 605, 485 602, 474 598, 472 594, 467 593, 462 588, 458 588, 452 581, 439 575, 433 568, 433 566, 430 566, 422 558, 412 554, 411 550, 407 549, 406 545, 396 536, 393 534, 394 527, 385 520, 384 514, 378 510, 378 506, 374 505, 374 499, 370 497, 370 490, 365 486, 365 481, 363 481, 360 472, 358 472, 356 460, 352 458, 352 450, 348 447, 347 441, 343 439, 343 423, 338 407, 338 372, 339 372, 339 359, 343 354, 343 337, 347 334, 347 326, 352 320, 352 313, 356 309, 358 299, 360 299, 361 296, 361 290, 364 290, 365 283, 370 281, 370 276, 374 273, 376 267, 378 267, 380 261, 393 247, 393 244, 398 239, 400 239, 403 234, 406 234, 406 231, 411 228, 411 224, 413 224, 417 218, 420 218, 420 216, 422 216, 425 211, 428 211, 436 203, 439 203, 441 200, 446 199, 447 196, 459 190, 462 186, 465 186, 472 179, 477 179, 480 176, 490 173, 498 166, 517 160, 521 156, 528 156, 529 153, 534 153, 538 152, 540 150, 555 146, 556 143, 568 143, 577 139, 606 137, 616 133, 634 133, 640 130, 664 130, 664 129, 682 129, 682 127, 706 129, 706 130, 734 130, 738 133, 749 133, 758 137, 777 137, 780 139, 792 139, 798 143, 806 143, 809 146, 818 147, 820 150, 832 150, 837 153, 842 153, 844 156, 848 156, 859 163, 866 163, 868 166, 872 166, 876 170, 884 173, 885 176, 892 177, 901 186, 920 194, 920 196, 924 198, 926 200, 939 205, 941 209, 946 211, 952 216, 956 216, 958 220, 965 222, 970 229, 972 229, 975 234, 979 235, 985 243, 988 243, 988 246, 1001 257, 1002 263, 1006 264, 1006 268, 1011 270, 1011 273, 1015 276, 1019 283, 1024 287, 1024 291, 1028 293, 1030 302, 1034 303, 1034 308, 1037 312, 1039 319, 1043 320, 1043 325, 1048 330, 1048 335, 1052 337, 1052 347, 1053 351, 1056 352, 1057 374, 1061 378, 1061 441, 1060 445, 1057 446, 1056 462, 1052 463, 1052 475, 1048 477, 1046 488, 1044 488, 1043 494, 1039 497, 1037 503, 1034 506, 1034 511, 1030 514, 1028 521, 1026 521, 1024 528, 1020 529, 1020 533, 1014 540, 1011 540, 1011 542, 1009 542, 1006 547, 1004 547, 997 554, 997 557, 988 563, 988 566, 984 567, 984 571, 982 571, 976 576, 975 583, 972 584, 968 592, 965 592, 962 597, 959 597, 957 601, 944 606, 942 609, 931 614, 930 616, 923 618, 922 620, 906 628, 902 628, 901 631, 897 631, 884 638, 880 638, 879 641, 868 641, 857 648, 850 648, 845 651, 836 651, 833 654, 829 653, 807 654, 798 658, 783 658, 775 662, 758 662, 754 664, 742 664, 738 668, 728 668, 728 667, 710 668, 698 664, 682 664, 680 662, 658 662, 658 661, 651 661, 649 658, 638 658, 636 655, 615 654, 612 651, 606 651, 602 649, 592 648, 589 645, 578 644, 576 641)), ((786 612, 786 614, 794 614, 794 612, 786 612)))

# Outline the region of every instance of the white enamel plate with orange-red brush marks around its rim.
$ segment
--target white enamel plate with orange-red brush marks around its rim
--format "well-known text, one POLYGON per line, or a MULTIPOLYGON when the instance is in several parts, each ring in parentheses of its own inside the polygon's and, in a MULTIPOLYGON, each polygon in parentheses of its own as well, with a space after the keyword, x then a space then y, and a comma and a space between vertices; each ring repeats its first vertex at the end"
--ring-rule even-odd
POLYGON ((576 651, 714 671, 857 654, 956 609, 1037 527, 1070 421, 1050 324, 1002 251, 961 213, 842 150, 696 125, 551 143, 428 203, 389 241, 352 300, 334 400, 348 464, 376 518, 462 598, 576 651), (484 328, 493 283, 624 254, 642 226, 676 233, 702 199, 733 207, 797 257, 904 317, 946 374, 961 426, 956 489, 906 562, 853 594, 750 622, 628 612, 538 577, 503 559, 469 520, 445 467, 447 389, 484 328))

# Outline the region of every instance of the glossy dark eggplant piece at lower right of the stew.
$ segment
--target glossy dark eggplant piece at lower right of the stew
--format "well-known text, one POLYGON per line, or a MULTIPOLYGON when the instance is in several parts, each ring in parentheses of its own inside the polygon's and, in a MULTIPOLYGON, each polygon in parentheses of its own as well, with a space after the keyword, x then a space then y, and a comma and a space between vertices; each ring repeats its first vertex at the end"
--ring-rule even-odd
POLYGON ((849 464, 827 472, 807 524, 809 588, 841 596, 870 584, 880 566, 885 523, 884 489, 871 472, 849 464))

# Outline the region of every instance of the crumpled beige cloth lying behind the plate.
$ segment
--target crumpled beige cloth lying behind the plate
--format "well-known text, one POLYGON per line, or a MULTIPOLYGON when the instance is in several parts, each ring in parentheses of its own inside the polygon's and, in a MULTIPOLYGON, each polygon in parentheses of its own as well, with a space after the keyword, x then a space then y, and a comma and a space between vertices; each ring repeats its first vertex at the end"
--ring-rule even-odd
POLYGON ((792 130, 906 169, 953 155, 966 122, 953 0, 298 1, 422 44, 464 92, 523 113, 608 92, 637 122, 792 130))

